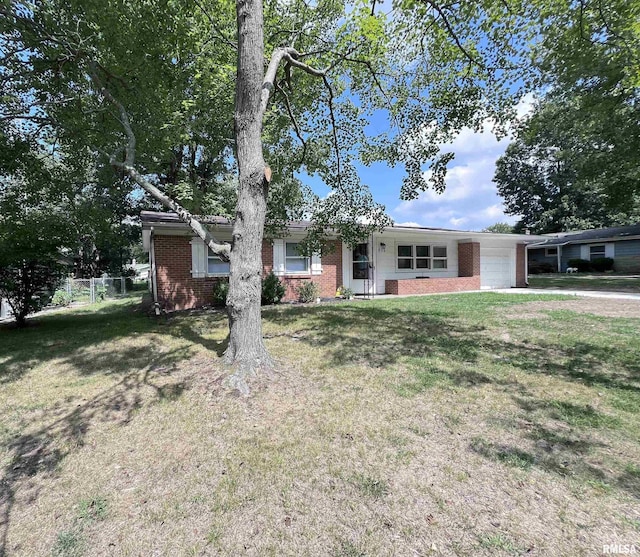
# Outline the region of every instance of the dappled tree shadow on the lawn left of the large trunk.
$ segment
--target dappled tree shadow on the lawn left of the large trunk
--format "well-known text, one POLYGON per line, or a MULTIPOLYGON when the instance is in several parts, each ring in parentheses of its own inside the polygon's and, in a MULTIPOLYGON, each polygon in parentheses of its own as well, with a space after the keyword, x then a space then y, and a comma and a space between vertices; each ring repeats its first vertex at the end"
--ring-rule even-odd
MULTIPOLYGON (((13 552, 7 547, 7 533, 18 489, 24 497, 35 500, 39 488, 31 478, 54 475, 62 460, 83 445, 87 432, 96 424, 124 427, 142 405, 182 395, 184 380, 170 373, 192 357, 189 343, 173 350, 160 350, 153 336, 142 346, 111 343, 160 333, 185 338, 216 352, 222 350, 224 343, 202 337, 184 317, 163 322, 149 317, 138 306, 108 305, 91 312, 45 315, 33 319, 27 329, 4 327, 0 331, 0 384, 18 380, 33 366, 53 360, 71 365, 79 375, 119 376, 115 385, 88 401, 82 399, 71 410, 74 399, 39 411, 37 422, 46 425, 22 423, 18 434, 5 442, 8 460, 0 472, 0 556, 13 552), (29 432, 24 433, 27 429, 29 432)), ((220 319, 224 315, 207 315, 207 322, 213 326, 220 319)))

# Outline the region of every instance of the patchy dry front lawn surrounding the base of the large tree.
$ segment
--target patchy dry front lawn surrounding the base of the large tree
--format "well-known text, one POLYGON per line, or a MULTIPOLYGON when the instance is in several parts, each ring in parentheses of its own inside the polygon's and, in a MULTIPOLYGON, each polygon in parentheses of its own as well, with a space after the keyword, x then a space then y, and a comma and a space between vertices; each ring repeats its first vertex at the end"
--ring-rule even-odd
POLYGON ((640 302, 459 294, 0 328, 0 554, 597 555, 640 539, 640 302))

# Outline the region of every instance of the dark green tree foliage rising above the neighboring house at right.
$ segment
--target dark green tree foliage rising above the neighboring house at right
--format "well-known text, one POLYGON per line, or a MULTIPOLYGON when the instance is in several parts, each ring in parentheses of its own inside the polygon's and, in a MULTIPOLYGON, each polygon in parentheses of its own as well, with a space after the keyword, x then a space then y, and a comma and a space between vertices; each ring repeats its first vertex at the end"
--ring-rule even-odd
POLYGON ((535 232, 640 217, 638 2, 558 13, 536 51, 544 95, 498 161, 508 214, 535 232))

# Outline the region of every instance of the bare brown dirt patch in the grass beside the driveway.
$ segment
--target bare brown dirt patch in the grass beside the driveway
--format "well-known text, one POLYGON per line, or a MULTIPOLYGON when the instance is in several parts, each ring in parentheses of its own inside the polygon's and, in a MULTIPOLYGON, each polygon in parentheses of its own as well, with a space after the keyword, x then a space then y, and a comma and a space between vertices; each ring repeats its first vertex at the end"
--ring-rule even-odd
POLYGON ((553 302, 525 302, 512 306, 506 315, 508 319, 539 319, 547 317, 546 310, 566 310, 576 313, 592 313, 603 317, 640 318, 640 300, 616 298, 577 298, 575 300, 555 300, 553 302))

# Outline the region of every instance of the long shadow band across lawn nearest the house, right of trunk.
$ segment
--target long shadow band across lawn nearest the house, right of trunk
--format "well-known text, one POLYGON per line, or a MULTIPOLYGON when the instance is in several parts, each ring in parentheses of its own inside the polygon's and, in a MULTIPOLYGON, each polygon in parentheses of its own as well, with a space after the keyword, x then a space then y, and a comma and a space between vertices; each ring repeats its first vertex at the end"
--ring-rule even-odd
POLYGON ((529 374, 562 377, 591 387, 626 391, 640 402, 640 353, 616 352, 606 343, 580 341, 524 344, 501 340, 484 325, 443 311, 386 309, 365 303, 342 307, 278 308, 263 313, 268 323, 288 328, 278 336, 294 338, 326 350, 326 366, 362 363, 386 367, 400 361, 416 369, 429 366, 459 384, 496 383, 494 377, 472 369, 480 358, 493 355, 529 374), (421 358, 440 356, 457 364, 453 373, 434 369, 421 358))

